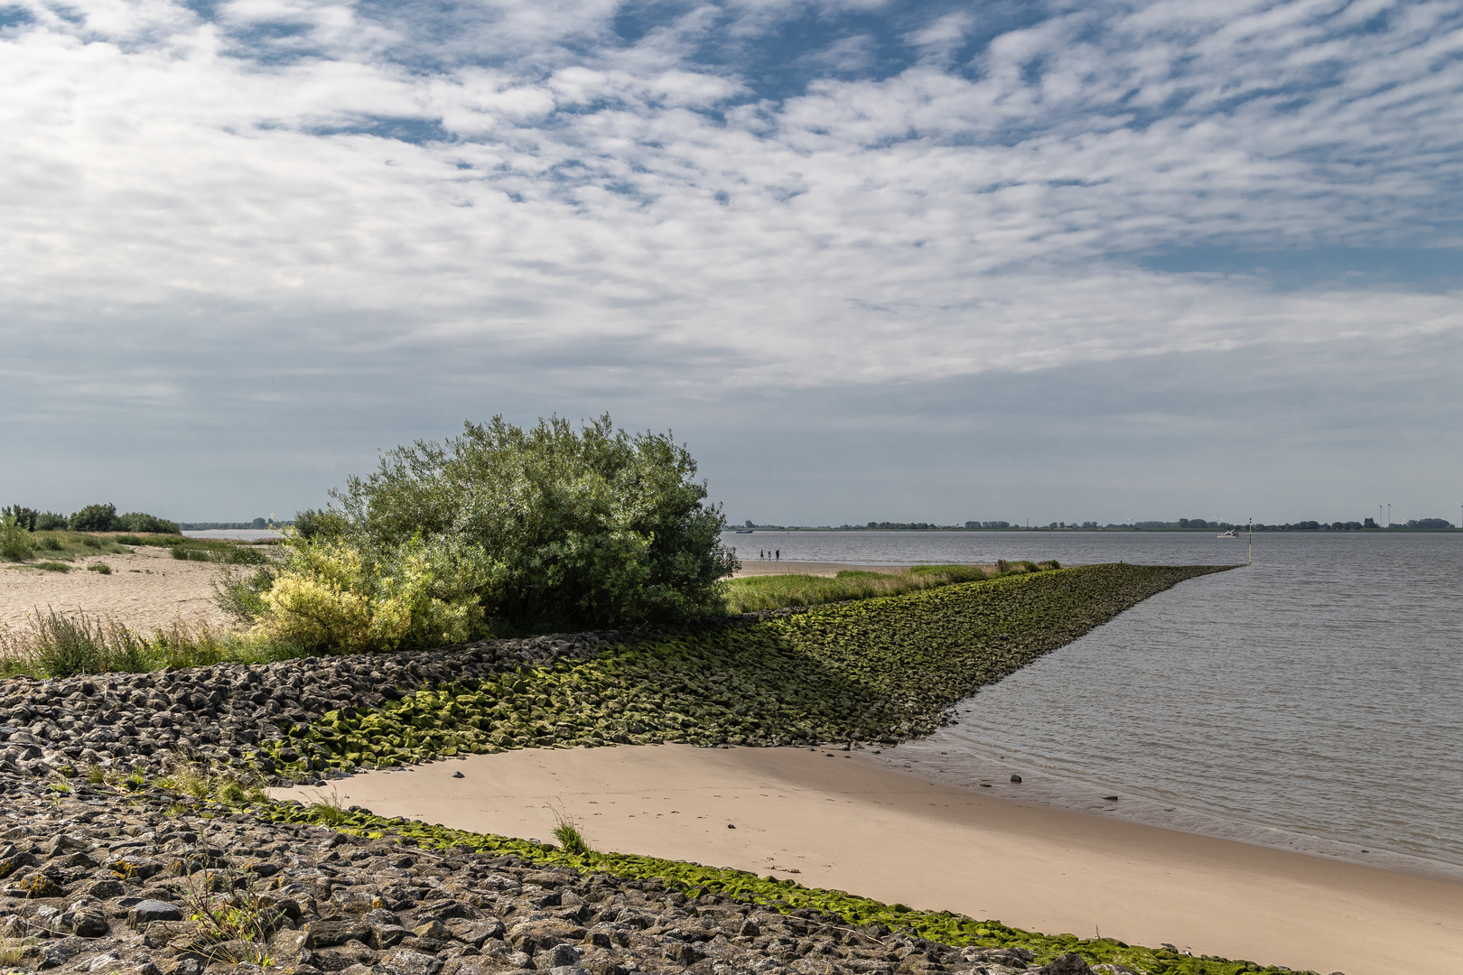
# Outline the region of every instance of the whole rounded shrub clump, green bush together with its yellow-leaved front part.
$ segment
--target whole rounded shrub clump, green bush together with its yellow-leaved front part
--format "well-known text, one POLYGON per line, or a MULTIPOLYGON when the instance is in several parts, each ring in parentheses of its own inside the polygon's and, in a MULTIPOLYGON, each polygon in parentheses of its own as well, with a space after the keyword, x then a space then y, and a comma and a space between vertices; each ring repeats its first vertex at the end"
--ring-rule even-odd
POLYGON ((695 474, 670 434, 607 415, 468 422, 297 515, 278 577, 231 608, 269 639, 339 649, 717 612, 736 560, 695 474))

